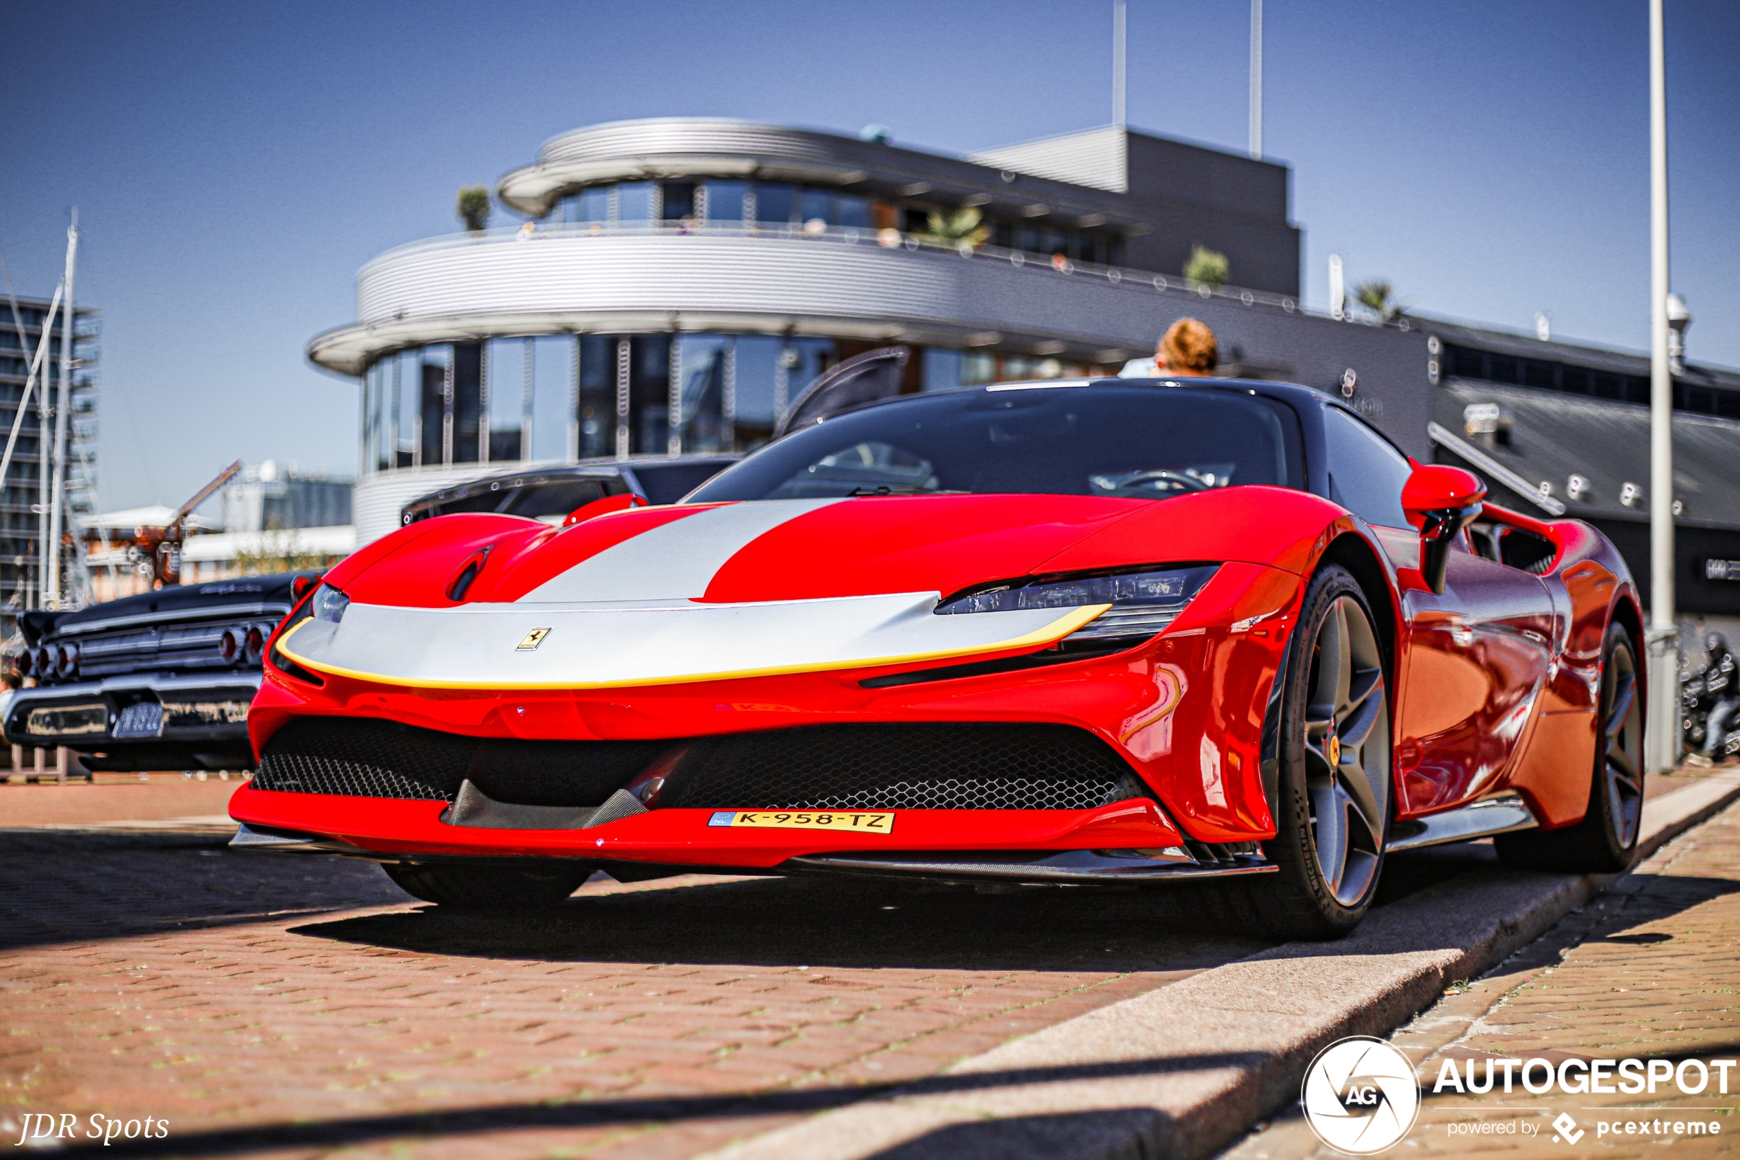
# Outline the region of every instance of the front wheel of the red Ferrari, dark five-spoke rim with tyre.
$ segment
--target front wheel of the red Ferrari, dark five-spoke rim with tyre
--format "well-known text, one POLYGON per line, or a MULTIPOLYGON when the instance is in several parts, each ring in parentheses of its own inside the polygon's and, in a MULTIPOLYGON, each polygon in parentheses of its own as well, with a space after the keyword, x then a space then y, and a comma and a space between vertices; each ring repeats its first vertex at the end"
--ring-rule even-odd
POLYGON ((1390 701, 1359 583, 1340 565, 1310 581, 1281 696, 1279 866, 1221 883, 1230 917, 1268 934, 1333 939, 1364 918, 1390 821, 1390 701))

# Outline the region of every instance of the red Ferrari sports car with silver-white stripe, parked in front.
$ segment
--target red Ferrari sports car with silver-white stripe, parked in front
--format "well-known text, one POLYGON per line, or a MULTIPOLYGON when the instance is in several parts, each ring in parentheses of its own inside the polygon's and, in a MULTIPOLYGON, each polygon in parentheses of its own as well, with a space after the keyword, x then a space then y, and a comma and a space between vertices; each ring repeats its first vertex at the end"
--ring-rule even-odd
POLYGON ((1101 379, 846 410, 672 506, 419 522, 273 637, 237 842, 447 906, 1220 878, 1319 937, 1390 850, 1618 870, 1636 590, 1482 497, 1308 388, 1101 379))

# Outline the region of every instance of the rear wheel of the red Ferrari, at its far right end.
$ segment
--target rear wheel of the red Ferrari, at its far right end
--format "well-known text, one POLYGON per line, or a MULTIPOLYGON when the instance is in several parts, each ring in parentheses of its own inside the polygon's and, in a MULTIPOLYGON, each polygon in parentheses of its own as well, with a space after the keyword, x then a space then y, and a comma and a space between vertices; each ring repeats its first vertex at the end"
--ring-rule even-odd
POLYGON ((1618 873, 1637 856, 1643 828, 1643 701, 1637 654, 1623 624, 1601 649, 1601 701, 1594 776, 1583 821, 1563 830, 1524 830, 1493 838, 1500 861, 1519 870, 1618 873))

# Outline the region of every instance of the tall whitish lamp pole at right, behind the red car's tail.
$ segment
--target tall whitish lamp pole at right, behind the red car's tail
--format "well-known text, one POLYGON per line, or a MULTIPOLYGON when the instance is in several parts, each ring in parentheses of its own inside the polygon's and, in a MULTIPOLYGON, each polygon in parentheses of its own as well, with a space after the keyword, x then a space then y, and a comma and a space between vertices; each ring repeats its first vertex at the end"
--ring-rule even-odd
POLYGON ((1679 763, 1679 633, 1674 628, 1674 379, 1667 360, 1667 52, 1650 0, 1650 772, 1679 763))

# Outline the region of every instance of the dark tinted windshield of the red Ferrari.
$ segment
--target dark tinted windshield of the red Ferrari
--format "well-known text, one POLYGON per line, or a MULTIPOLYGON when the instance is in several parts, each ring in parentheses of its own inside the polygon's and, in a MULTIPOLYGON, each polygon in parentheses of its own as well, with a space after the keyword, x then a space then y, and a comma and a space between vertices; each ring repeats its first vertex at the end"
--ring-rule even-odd
POLYGON ((835 416, 755 452, 689 503, 926 492, 1168 499, 1303 487, 1300 426, 1277 400, 1215 388, 985 388, 835 416))

